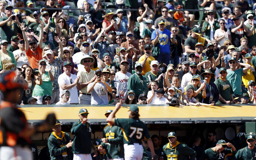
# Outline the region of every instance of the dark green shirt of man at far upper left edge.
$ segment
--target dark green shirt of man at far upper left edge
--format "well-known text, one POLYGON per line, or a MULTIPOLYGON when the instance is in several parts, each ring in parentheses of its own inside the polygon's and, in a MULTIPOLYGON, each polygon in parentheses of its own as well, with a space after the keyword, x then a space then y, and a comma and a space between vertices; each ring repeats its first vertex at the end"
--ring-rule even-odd
MULTIPOLYGON (((5 20, 8 20, 8 17, 4 16, 0 18, 0 22, 5 20)), ((17 36, 18 34, 18 24, 16 24, 14 21, 8 21, 1 28, 1 39, 7 40, 8 43, 11 43, 12 36, 17 36)))

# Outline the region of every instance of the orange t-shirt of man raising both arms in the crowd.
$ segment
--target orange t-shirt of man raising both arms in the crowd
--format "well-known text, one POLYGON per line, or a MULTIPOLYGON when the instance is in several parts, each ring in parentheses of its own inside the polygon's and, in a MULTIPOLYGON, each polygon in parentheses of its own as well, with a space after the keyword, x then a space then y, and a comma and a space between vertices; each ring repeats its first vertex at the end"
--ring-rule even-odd
POLYGON ((28 49, 27 51, 25 50, 30 67, 38 68, 38 62, 43 59, 42 51, 43 50, 39 47, 39 45, 36 47, 36 51, 32 51, 31 49, 28 49))

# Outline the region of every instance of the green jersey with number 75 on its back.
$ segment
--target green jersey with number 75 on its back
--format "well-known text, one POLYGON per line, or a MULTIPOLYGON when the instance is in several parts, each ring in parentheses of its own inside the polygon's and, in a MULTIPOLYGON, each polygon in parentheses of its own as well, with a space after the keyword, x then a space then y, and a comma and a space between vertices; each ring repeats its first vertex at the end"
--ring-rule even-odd
POLYGON ((124 134, 124 144, 142 144, 142 140, 149 140, 148 127, 141 120, 114 119, 114 125, 120 126, 124 134))

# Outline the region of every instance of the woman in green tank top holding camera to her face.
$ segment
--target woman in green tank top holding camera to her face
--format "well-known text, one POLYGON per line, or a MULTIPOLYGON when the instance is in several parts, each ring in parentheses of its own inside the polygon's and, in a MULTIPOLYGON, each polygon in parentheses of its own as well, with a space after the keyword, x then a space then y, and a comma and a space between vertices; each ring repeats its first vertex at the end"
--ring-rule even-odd
MULTIPOLYGON (((53 54, 52 50, 45 51, 45 54, 53 54)), ((38 104, 42 104, 44 95, 52 96, 52 81, 54 77, 51 73, 52 67, 48 71, 45 71, 46 60, 41 59, 38 63, 38 75, 42 75, 42 85, 35 85, 33 90, 33 97, 37 99, 38 104)))

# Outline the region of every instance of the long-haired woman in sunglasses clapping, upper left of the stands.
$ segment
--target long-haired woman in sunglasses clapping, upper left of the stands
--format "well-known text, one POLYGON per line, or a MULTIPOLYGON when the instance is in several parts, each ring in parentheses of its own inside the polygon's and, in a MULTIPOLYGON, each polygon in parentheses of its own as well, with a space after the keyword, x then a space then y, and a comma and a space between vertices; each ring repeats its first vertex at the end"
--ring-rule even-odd
POLYGON ((62 18, 62 17, 59 18, 57 20, 57 22, 58 22, 58 25, 59 25, 60 31, 61 31, 61 32, 59 32, 58 37, 66 36, 66 37, 68 37, 68 38, 73 40, 73 38, 74 38, 74 33, 72 31, 73 25, 70 26, 70 28, 69 28, 66 20, 64 18, 62 18))

